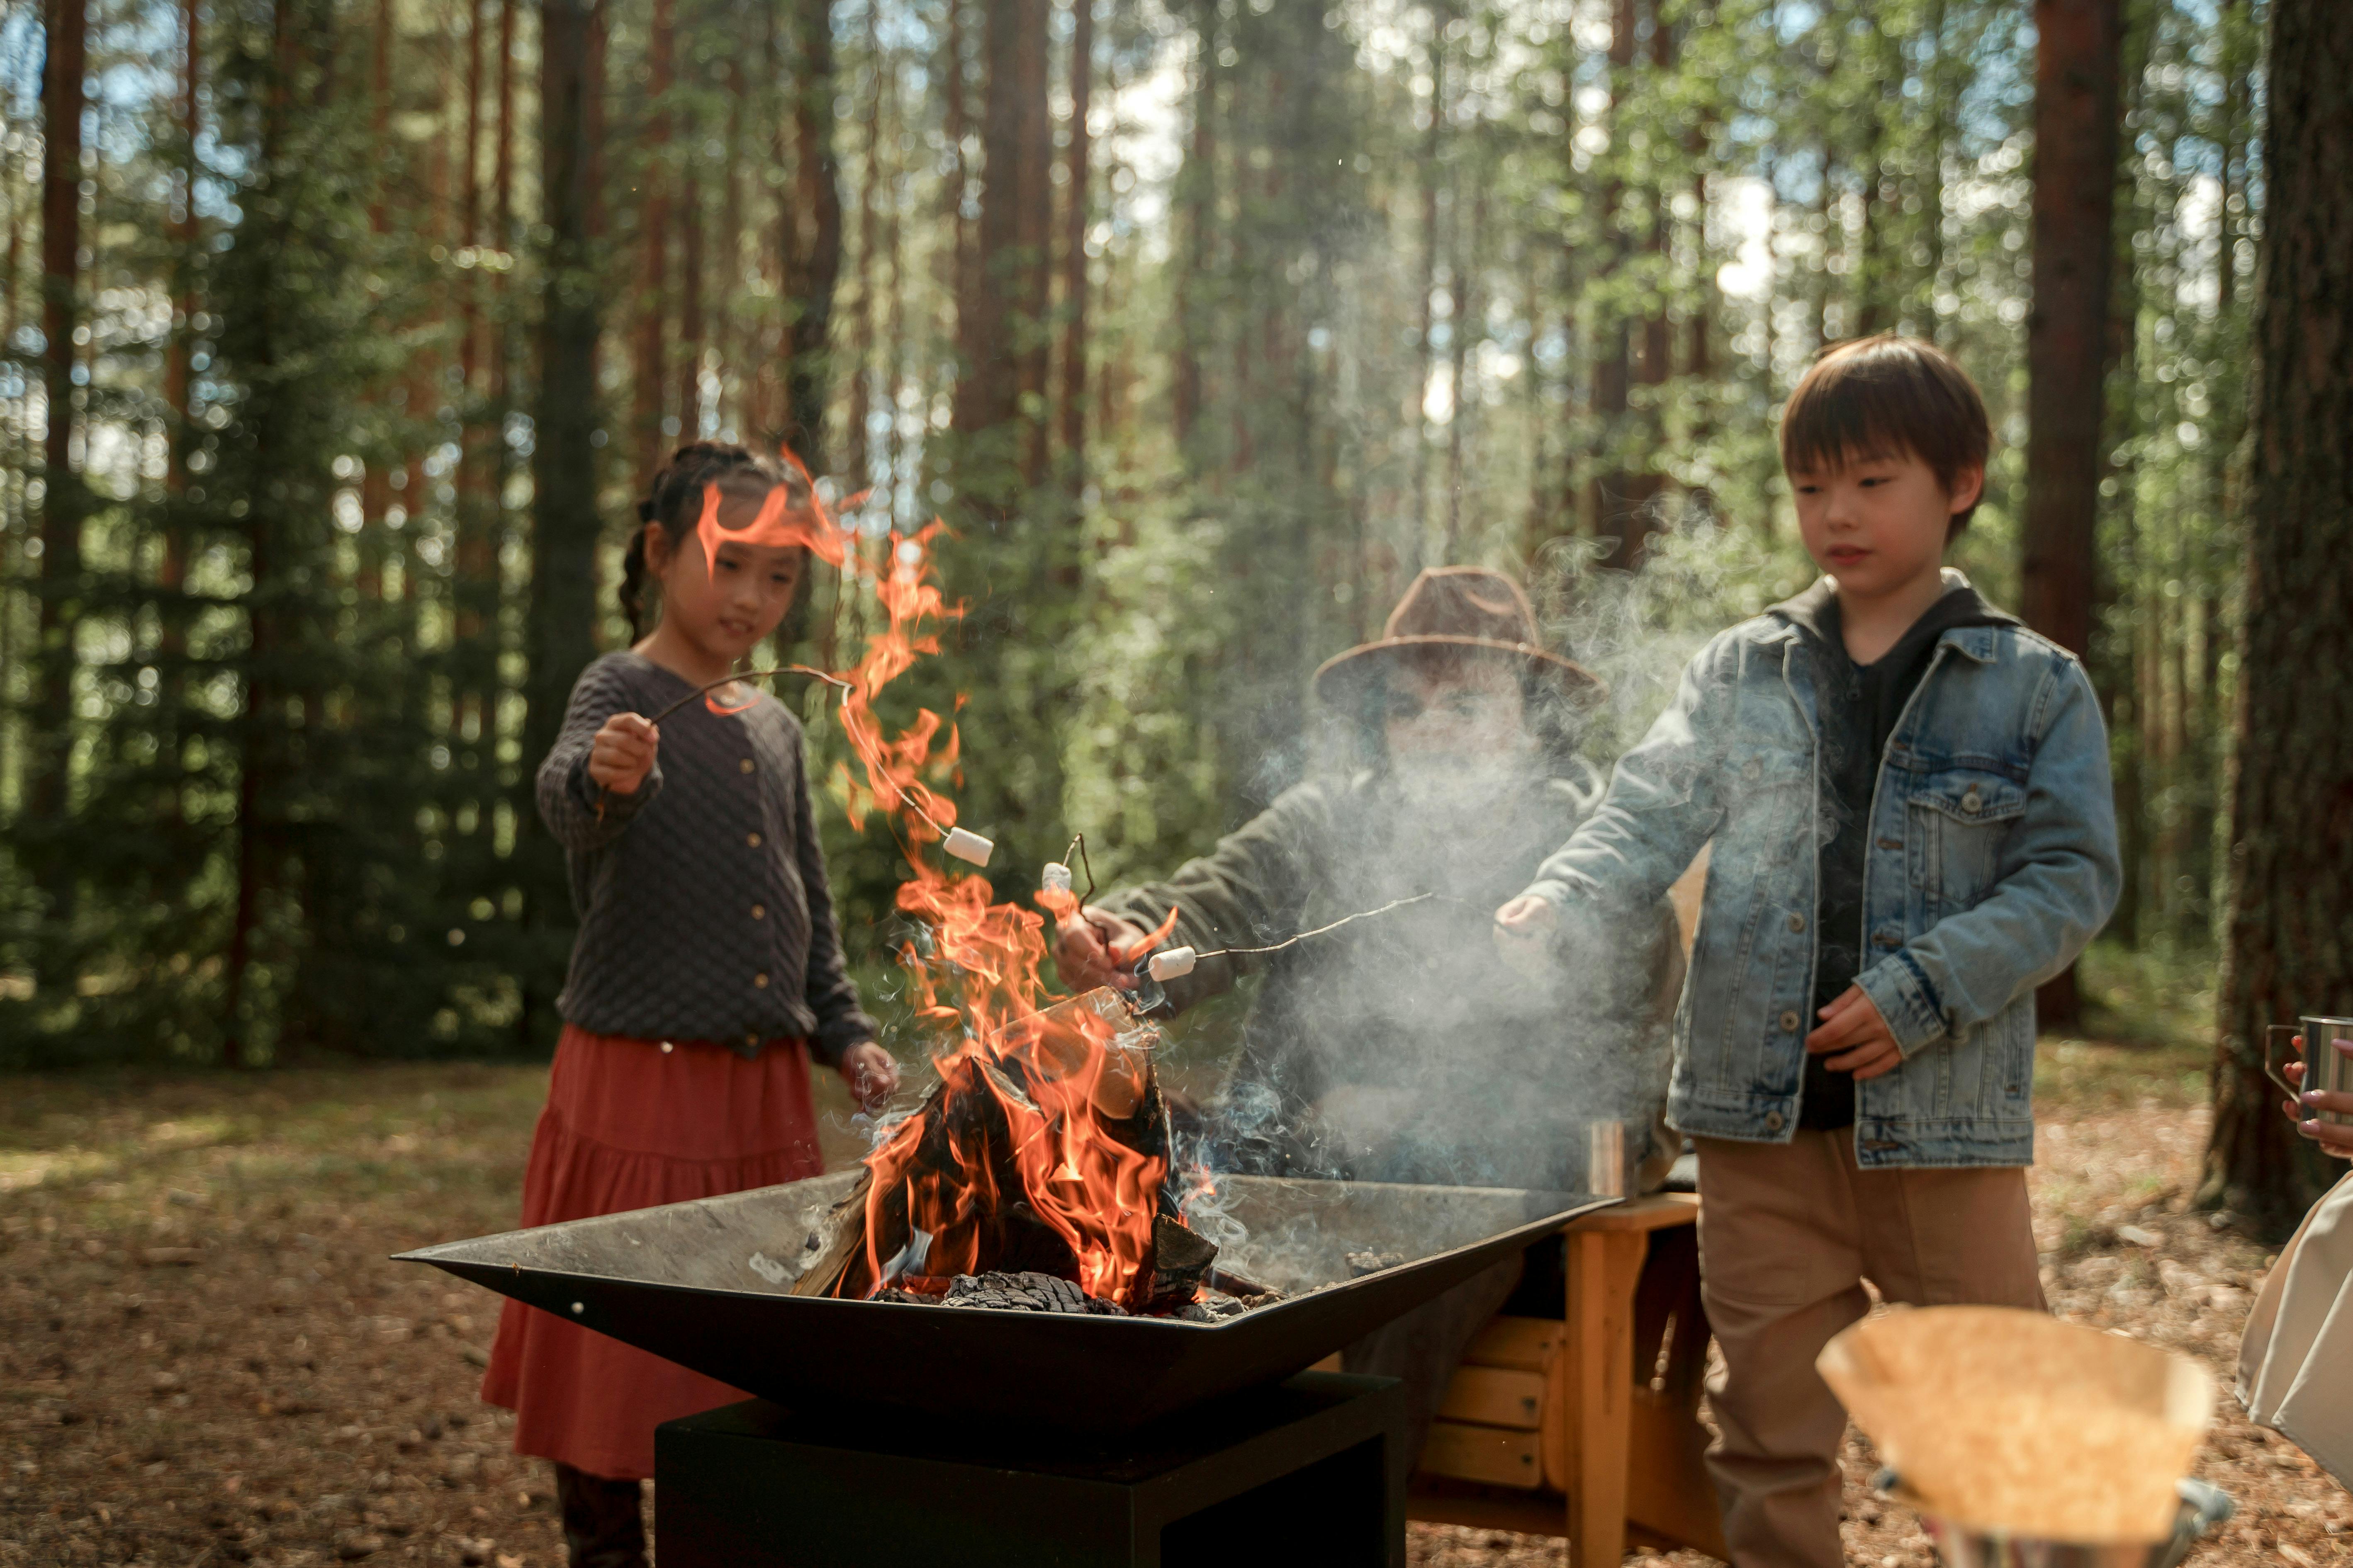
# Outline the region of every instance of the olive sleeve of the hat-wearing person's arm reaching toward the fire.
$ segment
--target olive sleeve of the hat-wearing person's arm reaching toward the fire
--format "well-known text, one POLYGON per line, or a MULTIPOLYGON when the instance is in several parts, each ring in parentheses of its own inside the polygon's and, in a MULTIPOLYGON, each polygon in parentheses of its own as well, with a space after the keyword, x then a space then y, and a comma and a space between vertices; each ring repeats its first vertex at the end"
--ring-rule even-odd
MULTIPOLYGON (((1294 785, 1219 839, 1214 851, 1176 867, 1167 882, 1118 889, 1099 898, 1096 907, 1146 931, 1158 929, 1174 907, 1176 929, 1165 947, 1217 952, 1278 943, 1299 931, 1299 917, 1315 891, 1311 867, 1325 860, 1332 818, 1325 785, 1294 785)), ((1181 1013, 1224 994, 1259 964, 1259 957, 1202 959, 1193 973, 1167 983, 1169 1006, 1181 1013)))

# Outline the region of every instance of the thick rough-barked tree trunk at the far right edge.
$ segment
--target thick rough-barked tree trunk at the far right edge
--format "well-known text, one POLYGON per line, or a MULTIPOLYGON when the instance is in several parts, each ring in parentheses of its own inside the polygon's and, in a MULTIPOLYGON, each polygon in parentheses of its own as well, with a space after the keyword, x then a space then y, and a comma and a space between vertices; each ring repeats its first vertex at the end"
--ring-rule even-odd
POLYGON ((2202 1197, 2285 1237, 2337 1175, 2264 1081, 2264 1025, 2353 997, 2353 7, 2271 0, 2247 614, 2202 1197))

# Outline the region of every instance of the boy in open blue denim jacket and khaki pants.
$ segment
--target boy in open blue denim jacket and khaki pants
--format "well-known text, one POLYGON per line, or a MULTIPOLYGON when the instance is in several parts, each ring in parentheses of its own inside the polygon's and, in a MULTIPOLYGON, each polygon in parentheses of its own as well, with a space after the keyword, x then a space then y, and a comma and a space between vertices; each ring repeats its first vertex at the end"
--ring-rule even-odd
POLYGON ((2035 985, 2115 905, 2082 665, 1944 571, 1986 473, 1967 374, 1897 336, 1821 355, 1781 463, 1807 592, 1718 635, 1609 797, 1497 910, 1522 966, 1713 846, 1668 1119, 1699 1145, 1725 1352, 1708 1453, 1739 1568, 1835 1568, 1845 1413, 1814 1373, 1864 1281, 2040 1309, 2035 985))

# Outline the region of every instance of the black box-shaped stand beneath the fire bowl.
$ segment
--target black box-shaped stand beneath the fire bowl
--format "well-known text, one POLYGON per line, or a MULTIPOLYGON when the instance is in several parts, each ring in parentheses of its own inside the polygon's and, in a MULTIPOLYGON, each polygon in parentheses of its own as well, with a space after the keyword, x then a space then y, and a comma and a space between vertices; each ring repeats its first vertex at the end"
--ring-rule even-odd
POLYGON ((1122 1436, 762 1399, 654 1436, 661 1568, 1405 1568, 1405 1399, 1301 1373, 1122 1436))

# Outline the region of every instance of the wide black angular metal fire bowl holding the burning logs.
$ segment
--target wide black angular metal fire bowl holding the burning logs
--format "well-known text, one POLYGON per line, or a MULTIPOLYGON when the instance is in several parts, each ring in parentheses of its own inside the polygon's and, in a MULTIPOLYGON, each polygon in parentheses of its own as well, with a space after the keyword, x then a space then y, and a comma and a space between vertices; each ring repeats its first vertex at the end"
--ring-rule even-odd
POLYGON ((800 1408, 1120 1432, 1275 1382, 1617 1199, 1513 1187, 1219 1178, 1249 1239, 1219 1265, 1287 1300, 1224 1324, 786 1295, 856 1182, 838 1171, 692 1204, 447 1241, 431 1262, 800 1408), (1405 1262, 1351 1279, 1348 1253, 1405 1262))

